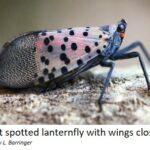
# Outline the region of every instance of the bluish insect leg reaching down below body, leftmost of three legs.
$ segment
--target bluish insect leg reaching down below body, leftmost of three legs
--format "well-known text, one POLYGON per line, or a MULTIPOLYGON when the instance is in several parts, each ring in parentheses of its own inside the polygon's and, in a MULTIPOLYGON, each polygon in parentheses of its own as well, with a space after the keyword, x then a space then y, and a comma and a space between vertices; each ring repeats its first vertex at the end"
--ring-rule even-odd
POLYGON ((103 96, 105 94, 106 88, 108 87, 109 80, 111 78, 111 75, 112 75, 113 69, 115 67, 115 64, 113 62, 106 62, 105 61, 105 62, 101 62, 100 65, 103 66, 103 67, 109 67, 110 68, 110 70, 109 70, 109 72, 107 74, 107 77, 105 79, 104 87, 103 87, 103 89, 101 91, 101 95, 100 95, 100 98, 99 98, 99 101, 98 101, 99 107, 100 107, 100 111, 102 111, 102 103, 104 102, 104 101, 102 101, 102 99, 103 99, 103 96))

